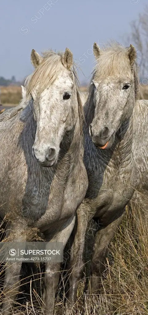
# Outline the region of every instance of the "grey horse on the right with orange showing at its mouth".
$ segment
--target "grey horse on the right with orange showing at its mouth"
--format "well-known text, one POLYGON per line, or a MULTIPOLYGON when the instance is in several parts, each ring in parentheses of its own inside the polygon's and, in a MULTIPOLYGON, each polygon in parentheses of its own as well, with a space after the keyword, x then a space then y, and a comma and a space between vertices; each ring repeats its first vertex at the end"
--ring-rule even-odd
POLYGON ((101 50, 94 43, 94 56, 97 63, 84 106, 84 164, 89 183, 85 199, 77 209, 73 231, 68 307, 76 302, 88 221, 94 218, 99 226, 88 283, 89 295, 98 293, 107 246, 137 184, 132 154, 133 109, 139 92, 136 50, 132 45, 124 48, 117 43, 101 50))

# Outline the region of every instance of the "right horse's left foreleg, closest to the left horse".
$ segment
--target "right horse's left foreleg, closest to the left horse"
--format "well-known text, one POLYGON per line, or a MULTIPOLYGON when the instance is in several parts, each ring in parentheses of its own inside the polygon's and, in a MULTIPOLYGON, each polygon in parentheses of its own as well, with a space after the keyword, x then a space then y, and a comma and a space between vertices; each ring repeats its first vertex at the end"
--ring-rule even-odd
POLYGON ((77 217, 74 230, 71 237, 73 239, 71 247, 70 277, 69 277, 69 294, 67 299, 67 309, 71 309, 76 304, 77 289, 83 273, 83 254, 85 234, 88 226, 86 206, 84 203, 77 209, 77 217))

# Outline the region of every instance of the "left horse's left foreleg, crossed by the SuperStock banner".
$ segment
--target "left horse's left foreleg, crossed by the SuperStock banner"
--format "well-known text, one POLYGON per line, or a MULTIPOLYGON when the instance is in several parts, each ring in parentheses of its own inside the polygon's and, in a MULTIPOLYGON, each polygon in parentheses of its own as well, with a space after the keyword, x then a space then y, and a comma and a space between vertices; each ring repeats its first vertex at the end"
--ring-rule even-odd
MULTIPOLYGON (((6 232, 6 238, 10 239, 11 242, 25 242, 25 233, 23 225, 11 224, 6 232)), ((20 288, 20 269, 21 262, 8 261, 5 267, 5 278, 4 278, 4 302, 3 302, 3 315, 9 315, 13 312, 12 306, 15 301, 20 288)))

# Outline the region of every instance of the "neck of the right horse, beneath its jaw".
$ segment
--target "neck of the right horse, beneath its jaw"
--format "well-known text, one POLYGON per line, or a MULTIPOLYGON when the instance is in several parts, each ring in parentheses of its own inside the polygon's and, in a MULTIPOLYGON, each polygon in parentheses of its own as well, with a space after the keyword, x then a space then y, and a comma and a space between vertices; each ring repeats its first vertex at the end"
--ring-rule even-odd
POLYGON ((96 148, 90 135, 89 125, 92 123, 94 117, 94 103, 91 102, 89 106, 89 98, 84 106, 85 114, 85 149, 84 149, 84 163, 95 163, 102 168, 106 168, 106 165, 120 166, 126 168, 131 162, 131 150, 133 142, 133 113, 122 123, 120 129, 116 132, 114 144, 108 150, 101 150, 96 148), (90 162, 91 161, 91 162, 90 162))

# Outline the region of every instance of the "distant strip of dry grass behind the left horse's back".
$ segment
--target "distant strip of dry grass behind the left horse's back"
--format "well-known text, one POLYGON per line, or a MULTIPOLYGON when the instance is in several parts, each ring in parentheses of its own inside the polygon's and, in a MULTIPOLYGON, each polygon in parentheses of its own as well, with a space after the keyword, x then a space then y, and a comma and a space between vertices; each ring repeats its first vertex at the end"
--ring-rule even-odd
POLYGON ((20 86, 1 86, 0 87, 0 101, 1 104, 18 104, 21 100, 20 86))

